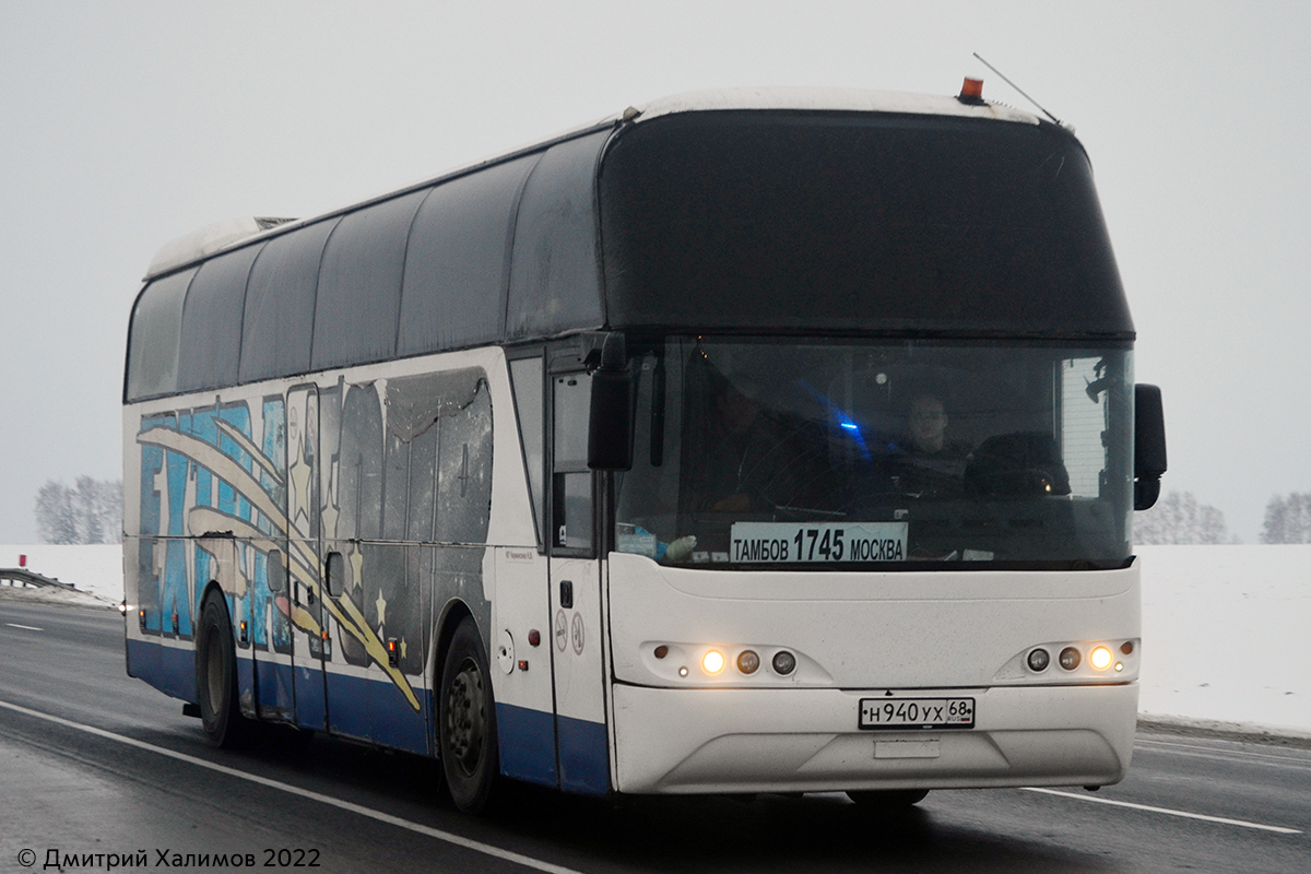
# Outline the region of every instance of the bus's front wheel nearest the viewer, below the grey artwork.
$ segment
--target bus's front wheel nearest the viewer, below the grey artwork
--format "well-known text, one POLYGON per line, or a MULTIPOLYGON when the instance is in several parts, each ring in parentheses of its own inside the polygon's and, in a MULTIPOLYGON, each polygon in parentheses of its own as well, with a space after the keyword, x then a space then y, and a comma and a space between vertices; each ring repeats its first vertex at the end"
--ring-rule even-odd
POLYGON ((477 814, 492 801, 499 772, 492 674, 477 624, 465 616, 446 650, 437 715, 438 751, 451 801, 477 814))

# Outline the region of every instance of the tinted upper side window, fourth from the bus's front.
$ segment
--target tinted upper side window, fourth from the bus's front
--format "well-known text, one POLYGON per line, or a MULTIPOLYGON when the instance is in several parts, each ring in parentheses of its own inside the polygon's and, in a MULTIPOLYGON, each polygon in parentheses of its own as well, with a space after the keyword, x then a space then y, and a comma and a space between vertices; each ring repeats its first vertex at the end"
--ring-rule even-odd
POLYGON ((309 371, 319 261, 334 227, 336 219, 274 237, 256 258, 241 330, 243 383, 309 371))

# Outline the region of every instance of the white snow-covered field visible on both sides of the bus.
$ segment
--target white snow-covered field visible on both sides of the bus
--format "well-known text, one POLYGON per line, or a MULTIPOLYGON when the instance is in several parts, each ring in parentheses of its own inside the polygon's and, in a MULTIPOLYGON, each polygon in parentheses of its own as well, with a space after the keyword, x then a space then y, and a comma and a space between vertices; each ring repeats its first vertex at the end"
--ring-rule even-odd
MULTIPOLYGON (((0 567, 17 567, 20 554, 39 574, 115 604, 123 598, 117 545, 0 546, 0 567)), ((1311 545, 1138 554, 1142 712, 1311 732, 1311 545)))

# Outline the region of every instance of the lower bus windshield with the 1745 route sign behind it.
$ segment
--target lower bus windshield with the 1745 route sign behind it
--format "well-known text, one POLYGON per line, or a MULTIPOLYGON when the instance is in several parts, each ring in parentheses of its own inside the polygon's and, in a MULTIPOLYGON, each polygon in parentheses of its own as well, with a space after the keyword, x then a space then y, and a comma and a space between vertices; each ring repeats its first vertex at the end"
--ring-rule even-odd
POLYGON ((1126 349, 666 337, 631 352, 619 552, 718 567, 1129 557, 1126 349))

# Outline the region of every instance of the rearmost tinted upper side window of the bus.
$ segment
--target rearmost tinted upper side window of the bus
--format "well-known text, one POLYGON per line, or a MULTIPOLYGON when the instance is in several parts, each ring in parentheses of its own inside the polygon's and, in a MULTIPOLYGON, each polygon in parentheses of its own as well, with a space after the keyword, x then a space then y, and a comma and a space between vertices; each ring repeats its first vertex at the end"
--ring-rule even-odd
POLYGON ((177 390, 177 351, 182 301, 195 270, 152 282, 136 299, 127 339, 127 400, 177 390))

